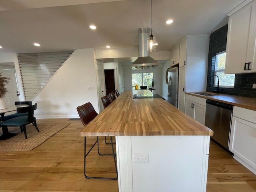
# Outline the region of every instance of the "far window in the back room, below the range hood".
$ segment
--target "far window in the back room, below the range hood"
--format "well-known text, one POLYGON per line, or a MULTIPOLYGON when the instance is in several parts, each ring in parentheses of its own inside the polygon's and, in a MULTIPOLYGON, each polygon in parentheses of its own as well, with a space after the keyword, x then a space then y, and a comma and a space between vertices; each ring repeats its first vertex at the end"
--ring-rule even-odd
POLYGON ((133 73, 132 74, 132 90, 135 90, 135 85, 151 87, 154 73, 133 73))

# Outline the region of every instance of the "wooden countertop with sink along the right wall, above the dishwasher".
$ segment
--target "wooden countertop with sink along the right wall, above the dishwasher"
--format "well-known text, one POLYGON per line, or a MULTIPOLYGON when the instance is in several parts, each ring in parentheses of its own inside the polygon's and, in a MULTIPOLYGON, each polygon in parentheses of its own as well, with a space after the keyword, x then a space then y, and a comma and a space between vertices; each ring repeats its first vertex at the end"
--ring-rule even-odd
POLYGON ((196 92, 186 92, 186 94, 201 97, 201 98, 206 98, 214 101, 224 102, 234 106, 256 111, 256 98, 234 96, 234 95, 227 95, 227 94, 214 94, 214 93, 210 93, 210 94, 213 94, 211 96, 196 94, 196 92))

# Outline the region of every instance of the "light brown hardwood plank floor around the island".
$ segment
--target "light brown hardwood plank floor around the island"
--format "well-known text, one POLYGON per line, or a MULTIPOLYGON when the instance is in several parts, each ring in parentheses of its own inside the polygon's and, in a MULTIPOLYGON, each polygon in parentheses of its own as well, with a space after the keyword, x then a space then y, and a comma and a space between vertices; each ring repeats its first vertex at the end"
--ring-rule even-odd
MULTIPOLYGON (((67 121, 37 120, 38 123, 67 121)), ((0 192, 118 192, 117 180, 84 178, 84 138, 79 134, 84 126, 80 120, 68 122, 68 127, 32 151, 0 152, 0 192)), ((95 137, 88 138, 88 149, 94 140, 95 137)), ((100 143, 100 151, 111 151, 110 145, 104 144, 104 137, 100 143)), ((115 176, 112 158, 98 156, 96 149, 86 161, 88 175, 115 176)), ((211 141, 207 192, 256 192, 256 175, 211 141)))

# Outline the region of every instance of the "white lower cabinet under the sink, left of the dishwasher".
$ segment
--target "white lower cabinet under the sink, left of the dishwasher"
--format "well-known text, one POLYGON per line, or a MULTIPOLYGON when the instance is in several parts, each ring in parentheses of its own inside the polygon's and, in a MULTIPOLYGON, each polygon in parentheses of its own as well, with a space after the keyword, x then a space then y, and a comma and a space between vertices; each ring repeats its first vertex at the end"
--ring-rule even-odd
POLYGON ((186 94, 185 113, 204 124, 206 99, 186 94))

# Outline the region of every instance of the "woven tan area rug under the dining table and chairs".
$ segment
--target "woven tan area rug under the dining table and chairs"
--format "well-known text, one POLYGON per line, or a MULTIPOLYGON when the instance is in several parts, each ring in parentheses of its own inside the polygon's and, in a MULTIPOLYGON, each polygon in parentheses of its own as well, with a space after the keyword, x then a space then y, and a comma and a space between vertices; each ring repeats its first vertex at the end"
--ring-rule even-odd
MULTIPOLYGON (((28 139, 25 139, 24 133, 19 133, 10 139, 0 140, 0 151, 30 151, 45 142, 48 138, 60 130, 67 127, 69 124, 70 123, 37 124, 40 132, 37 132, 35 126, 32 124, 27 125, 26 130, 28 139)), ((16 130, 19 129, 19 127, 16 128, 16 130)))

